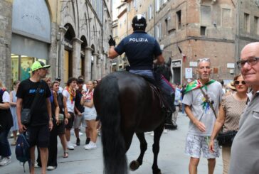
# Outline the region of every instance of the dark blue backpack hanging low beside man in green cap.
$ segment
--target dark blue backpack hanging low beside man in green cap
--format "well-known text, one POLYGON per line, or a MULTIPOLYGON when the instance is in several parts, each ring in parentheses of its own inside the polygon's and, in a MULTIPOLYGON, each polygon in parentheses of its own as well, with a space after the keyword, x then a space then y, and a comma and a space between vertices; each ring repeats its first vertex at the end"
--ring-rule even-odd
POLYGON ((25 172, 24 164, 26 163, 26 161, 28 161, 28 165, 30 168, 31 156, 30 156, 30 145, 28 144, 27 138, 24 134, 18 135, 18 138, 16 141, 15 154, 16 154, 17 160, 20 161, 20 163, 23 163, 23 170, 25 172))

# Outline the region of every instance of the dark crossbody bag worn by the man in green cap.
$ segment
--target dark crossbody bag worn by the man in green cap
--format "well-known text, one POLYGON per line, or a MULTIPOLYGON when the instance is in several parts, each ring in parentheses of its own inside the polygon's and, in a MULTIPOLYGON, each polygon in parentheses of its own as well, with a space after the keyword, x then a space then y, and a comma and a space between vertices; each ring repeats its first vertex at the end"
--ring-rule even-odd
POLYGON ((36 100, 38 99, 39 94, 40 94, 39 91, 41 89, 41 84, 42 84, 42 82, 40 82, 40 85, 38 85, 38 88, 36 90, 36 95, 31 104, 31 109, 28 109, 28 108, 21 109, 21 124, 25 124, 25 125, 30 124, 31 114, 33 113, 33 109, 35 108, 36 100))

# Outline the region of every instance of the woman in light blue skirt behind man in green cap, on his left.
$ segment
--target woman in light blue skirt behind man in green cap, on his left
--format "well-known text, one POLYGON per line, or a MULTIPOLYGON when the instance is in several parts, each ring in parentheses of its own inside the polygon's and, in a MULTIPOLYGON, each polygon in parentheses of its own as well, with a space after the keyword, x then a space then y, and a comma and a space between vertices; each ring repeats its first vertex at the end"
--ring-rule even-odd
POLYGON ((11 143, 11 146, 16 146, 16 138, 17 138, 17 131, 19 130, 18 127, 18 121, 17 121, 17 115, 16 115, 16 92, 18 89, 18 86, 20 84, 19 80, 14 81, 13 83, 13 88, 10 92, 10 109, 11 109, 11 115, 13 116, 13 121, 14 121, 14 126, 11 127, 11 131, 13 132, 14 135, 14 141, 11 143))

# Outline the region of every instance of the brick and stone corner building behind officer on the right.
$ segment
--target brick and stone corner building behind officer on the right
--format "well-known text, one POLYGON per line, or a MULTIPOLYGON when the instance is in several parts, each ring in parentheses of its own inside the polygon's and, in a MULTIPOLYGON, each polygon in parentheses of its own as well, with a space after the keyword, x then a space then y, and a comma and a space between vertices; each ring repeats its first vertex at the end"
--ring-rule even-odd
MULTIPOLYGON (((134 6, 134 12, 129 11, 128 16, 132 13, 146 16, 147 33, 157 38, 164 58, 172 58, 174 83, 196 79, 199 58, 211 59, 213 79, 233 80, 239 72, 236 61, 240 50, 245 44, 259 40, 257 0, 124 2, 134 6)), ((120 18, 117 20, 120 23, 120 18)))

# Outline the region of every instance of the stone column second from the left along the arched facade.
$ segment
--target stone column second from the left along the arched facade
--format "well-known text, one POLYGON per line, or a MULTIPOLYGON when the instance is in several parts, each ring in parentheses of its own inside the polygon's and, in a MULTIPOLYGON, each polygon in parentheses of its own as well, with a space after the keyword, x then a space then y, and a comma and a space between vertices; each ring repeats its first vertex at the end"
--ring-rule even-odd
POLYGON ((78 76, 81 75, 81 67, 80 67, 80 51, 81 51, 81 44, 83 43, 80 38, 73 38, 73 53, 72 53, 72 73, 73 77, 77 78, 78 76))

